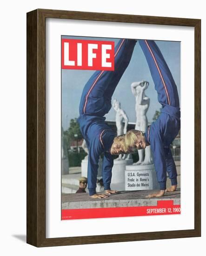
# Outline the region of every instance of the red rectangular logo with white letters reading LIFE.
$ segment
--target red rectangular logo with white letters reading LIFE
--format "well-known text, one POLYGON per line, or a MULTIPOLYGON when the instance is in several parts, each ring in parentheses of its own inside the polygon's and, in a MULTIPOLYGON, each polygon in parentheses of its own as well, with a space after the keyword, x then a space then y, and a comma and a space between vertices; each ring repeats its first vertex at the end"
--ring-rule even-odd
POLYGON ((63 69, 114 70, 114 42, 61 39, 63 69))

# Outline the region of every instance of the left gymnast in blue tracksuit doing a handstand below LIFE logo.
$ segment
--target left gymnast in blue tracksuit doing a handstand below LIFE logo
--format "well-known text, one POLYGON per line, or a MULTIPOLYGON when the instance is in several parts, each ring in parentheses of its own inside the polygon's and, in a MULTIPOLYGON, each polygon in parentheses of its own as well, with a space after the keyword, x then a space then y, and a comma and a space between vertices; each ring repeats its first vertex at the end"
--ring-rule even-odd
POLYGON ((111 99, 126 67, 128 66, 136 40, 121 39, 115 47, 114 71, 96 71, 86 83, 81 100, 81 133, 89 149, 88 154, 88 189, 94 198, 106 197, 96 193, 97 170, 100 155, 104 153, 102 178, 106 194, 116 193, 111 190, 113 156, 121 154, 123 137, 115 139, 116 134, 106 124, 104 115, 111 109, 111 99), (119 141, 119 142, 118 142, 119 141))

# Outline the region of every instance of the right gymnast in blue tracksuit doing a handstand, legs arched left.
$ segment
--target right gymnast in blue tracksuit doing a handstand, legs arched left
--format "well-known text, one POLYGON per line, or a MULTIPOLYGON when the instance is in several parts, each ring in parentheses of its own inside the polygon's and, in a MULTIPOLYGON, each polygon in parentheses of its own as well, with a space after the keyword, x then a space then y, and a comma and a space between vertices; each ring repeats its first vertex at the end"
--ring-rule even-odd
POLYGON ((145 148, 151 145, 153 161, 157 173, 160 191, 148 197, 162 196, 166 189, 166 173, 171 180, 171 188, 177 188, 177 170, 171 153, 170 145, 178 135, 180 129, 179 96, 173 76, 161 54, 159 47, 153 40, 139 40, 140 47, 145 54, 155 89, 158 93, 158 101, 162 105, 159 118, 146 129, 145 134, 139 131, 129 131, 126 134, 126 143, 131 148, 145 148), (131 142, 131 136, 138 140, 131 142), (143 146, 143 147, 142 147, 143 146))

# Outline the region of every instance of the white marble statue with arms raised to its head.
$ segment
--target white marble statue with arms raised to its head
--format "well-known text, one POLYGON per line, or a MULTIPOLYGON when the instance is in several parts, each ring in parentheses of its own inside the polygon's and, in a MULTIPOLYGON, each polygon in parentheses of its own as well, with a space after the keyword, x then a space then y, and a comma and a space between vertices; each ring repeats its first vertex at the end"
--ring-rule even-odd
MULTIPOLYGON (((135 96, 136 104, 135 104, 135 111, 136 111, 136 124, 135 130, 139 130, 142 132, 146 131, 148 120, 146 117, 147 110, 150 104, 150 98, 146 96, 145 90, 148 88, 149 82, 147 81, 140 81, 140 82, 133 82, 131 84, 132 93, 135 96)), ((153 158, 151 154, 150 146, 146 147, 145 149, 138 150, 139 154, 139 161, 133 164, 151 164, 153 163, 153 158)))

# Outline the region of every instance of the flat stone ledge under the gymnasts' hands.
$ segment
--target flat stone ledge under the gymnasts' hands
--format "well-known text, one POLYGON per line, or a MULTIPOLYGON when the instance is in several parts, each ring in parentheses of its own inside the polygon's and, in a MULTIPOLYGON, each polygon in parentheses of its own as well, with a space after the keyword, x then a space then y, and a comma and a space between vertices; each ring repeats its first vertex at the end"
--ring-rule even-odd
POLYGON ((146 195, 153 192, 155 190, 120 191, 105 199, 93 199, 88 193, 62 194, 62 209, 153 206, 157 205, 157 200, 173 200, 174 204, 180 204, 180 189, 166 192, 163 197, 146 198, 146 195))

